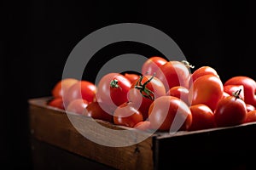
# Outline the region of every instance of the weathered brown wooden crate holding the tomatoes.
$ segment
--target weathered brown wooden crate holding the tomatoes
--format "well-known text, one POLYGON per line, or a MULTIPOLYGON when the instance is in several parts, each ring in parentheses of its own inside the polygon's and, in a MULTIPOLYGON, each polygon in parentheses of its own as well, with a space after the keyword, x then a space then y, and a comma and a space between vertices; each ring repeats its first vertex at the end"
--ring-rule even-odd
MULTIPOLYGON (((48 97, 29 100, 32 141, 51 144, 113 169, 253 168, 254 157, 251 155, 256 150, 256 123, 175 134, 154 133, 138 144, 109 147, 86 139, 73 127, 68 113, 46 105, 48 100, 48 97)), ((81 120, 84 126, 94 126, 85 116, 73 114, 73 117, 81 120)), ((125 128, 101 120, 96 122, 113 129, 125 128)), ((98 138, 106 133, 101 129, 94 130, 98 138)), ((145 133, 134 135, 139 139, 145 133)), ((119 137, 113 136, 116 138, 119 137)), ((125 138, 129 136, 120 140, 125 141, 125 138)))

